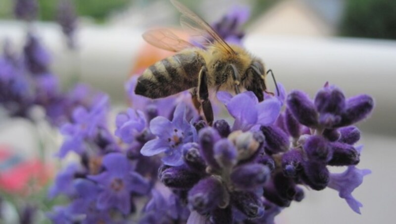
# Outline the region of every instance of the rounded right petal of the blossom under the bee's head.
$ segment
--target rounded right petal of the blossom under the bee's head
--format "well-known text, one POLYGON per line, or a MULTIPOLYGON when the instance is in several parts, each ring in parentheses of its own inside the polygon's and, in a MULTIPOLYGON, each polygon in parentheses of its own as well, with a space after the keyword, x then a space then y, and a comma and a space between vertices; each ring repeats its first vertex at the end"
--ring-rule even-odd
POLYGON ((276 99, 267 99, 256 105, 258 113, 257 123, 268 126, 275 122, 281 112, 281 102, 276 99))

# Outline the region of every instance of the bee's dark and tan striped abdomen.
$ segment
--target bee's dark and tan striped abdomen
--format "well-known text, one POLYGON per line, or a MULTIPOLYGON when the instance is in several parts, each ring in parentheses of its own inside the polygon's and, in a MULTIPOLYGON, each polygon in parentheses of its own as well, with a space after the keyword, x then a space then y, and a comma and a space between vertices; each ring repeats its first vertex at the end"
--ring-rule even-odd
POLYGON ((139 77, 135 93, 156 99, 197 87, 203 65, 203 57, 194 50, 157 61, 139 77))

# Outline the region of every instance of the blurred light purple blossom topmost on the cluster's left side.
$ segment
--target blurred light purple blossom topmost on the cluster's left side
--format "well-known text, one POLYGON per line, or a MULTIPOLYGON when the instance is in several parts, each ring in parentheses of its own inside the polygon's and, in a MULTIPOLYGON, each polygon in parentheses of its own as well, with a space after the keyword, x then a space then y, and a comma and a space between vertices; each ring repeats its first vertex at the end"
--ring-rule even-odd
POLYGON ((83 107, 74 110, 74 122, 64 124, 61 127, 61 133, 65 136, 65 141, 57 154, 60 158, 66 156, 69 151, 74 151, 77 154, 85 151, 84 141, 94 138, 98 127, 105 126, 107 101, 108 97, 103 97, 91 111, 87 111, 83 107))

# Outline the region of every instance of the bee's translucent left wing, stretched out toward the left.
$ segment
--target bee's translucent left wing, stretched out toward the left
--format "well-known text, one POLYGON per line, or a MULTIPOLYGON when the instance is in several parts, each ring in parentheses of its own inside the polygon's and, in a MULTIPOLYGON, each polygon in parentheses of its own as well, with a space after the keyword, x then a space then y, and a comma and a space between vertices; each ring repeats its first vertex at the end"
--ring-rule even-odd
POLYGON ((194 47, 193 44, 182 40, 168 29, 149 30, 143 34, 143 39, 152 46, 171 52, 180 52, 183 49, 194 47))

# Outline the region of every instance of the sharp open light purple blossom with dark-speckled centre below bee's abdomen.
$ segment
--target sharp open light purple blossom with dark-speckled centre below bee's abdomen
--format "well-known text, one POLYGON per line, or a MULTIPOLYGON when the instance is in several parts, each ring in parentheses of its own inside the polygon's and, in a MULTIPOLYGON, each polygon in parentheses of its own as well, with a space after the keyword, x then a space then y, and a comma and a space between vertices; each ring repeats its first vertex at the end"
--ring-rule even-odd
POLYGON ((142 148, 144 156, 165 153, 162 161, 166 165, 180 166, 183 164, 181 148, 183 144, 197 138, 197 131, 186 119, 186 105, 179 104, 173 114, 172 121, 158 116, 150 121, 150 131, 158 138, 148 141, 142 148))

